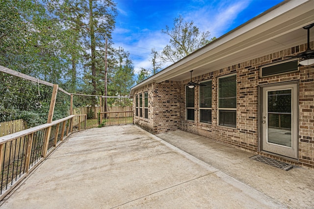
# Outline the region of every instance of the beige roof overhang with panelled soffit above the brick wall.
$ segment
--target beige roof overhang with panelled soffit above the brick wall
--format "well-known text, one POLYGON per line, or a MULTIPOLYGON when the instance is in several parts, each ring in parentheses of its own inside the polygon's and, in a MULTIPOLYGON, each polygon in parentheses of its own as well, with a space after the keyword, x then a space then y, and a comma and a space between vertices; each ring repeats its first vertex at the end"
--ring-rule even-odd
MULTIPOLYGON (((314 0, 286 0, 131 88, 182 81, 306 43, 302 27, 314 22, 314 0)), ((310 30, 310 40, 314 30, 310 30)))

